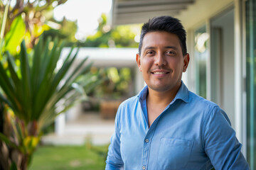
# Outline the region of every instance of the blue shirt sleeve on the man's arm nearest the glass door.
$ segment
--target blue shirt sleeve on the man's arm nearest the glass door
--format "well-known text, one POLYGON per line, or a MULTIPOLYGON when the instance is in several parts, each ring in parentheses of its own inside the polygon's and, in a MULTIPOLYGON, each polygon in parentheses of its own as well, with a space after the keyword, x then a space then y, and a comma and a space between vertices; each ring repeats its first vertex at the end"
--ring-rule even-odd
POLYGON ((242 145, 230 126, 228 115, 218 106, 206 118, 204 147, 215 169, 250 169, 242 155, 242 145))

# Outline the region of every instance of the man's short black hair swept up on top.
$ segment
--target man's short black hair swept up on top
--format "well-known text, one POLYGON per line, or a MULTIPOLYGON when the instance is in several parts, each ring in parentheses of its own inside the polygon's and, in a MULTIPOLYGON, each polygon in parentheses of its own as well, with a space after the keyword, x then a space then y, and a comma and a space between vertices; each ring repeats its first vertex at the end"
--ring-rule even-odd
POLYGON ((149 22, 144 23, 139 40, 139 55, 142 52, 142 41, 146 33, 154 31, 166 31, 167 33, 174 33, 178 36, 181 44, 182 54, 187 54, 186 49, 186 30, 183 28, 181 21, 171 16, 159 16, 149 19, 149 22))

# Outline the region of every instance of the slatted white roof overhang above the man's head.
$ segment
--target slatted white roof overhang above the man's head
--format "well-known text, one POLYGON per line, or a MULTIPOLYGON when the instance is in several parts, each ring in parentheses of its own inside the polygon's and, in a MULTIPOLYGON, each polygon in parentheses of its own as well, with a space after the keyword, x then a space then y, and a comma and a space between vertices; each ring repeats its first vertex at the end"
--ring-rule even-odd
POLYGON ((112 26, 146 23, 154 16, 176 16, 195 0, 113 0, 112 26))

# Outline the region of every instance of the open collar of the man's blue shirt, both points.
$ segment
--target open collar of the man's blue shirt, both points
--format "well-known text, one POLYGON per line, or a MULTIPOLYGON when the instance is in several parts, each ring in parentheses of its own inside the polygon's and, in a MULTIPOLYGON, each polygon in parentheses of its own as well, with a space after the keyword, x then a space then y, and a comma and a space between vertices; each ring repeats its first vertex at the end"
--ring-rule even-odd
MULTIPOLYGON (((174 101, 176 101, 177 99, 181 99, 182 101, 188 103, 188 88, 186 87, 186 85, 183 83, 183 81, 181 81, 181 87, 180 89, 178 89, 178 93, 176 94, 174 101)), ((139 94, 137 95, 137 97, 139 98, 139 101, 142 102, 144 100, 146 100, 146 95, 149 93, 148 90, 148 86, 144 86, 144 88, 142 89, 142 91, 139 92, 139 94)))

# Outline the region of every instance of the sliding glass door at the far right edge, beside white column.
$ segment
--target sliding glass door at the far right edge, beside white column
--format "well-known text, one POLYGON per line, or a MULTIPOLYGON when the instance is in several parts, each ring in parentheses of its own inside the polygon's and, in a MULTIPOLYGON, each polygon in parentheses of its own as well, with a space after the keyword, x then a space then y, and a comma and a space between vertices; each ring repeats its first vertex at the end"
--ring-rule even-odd
POLYGON ((245 2, 247 68, 247 161, 256 169, 256 0, 245 2))

